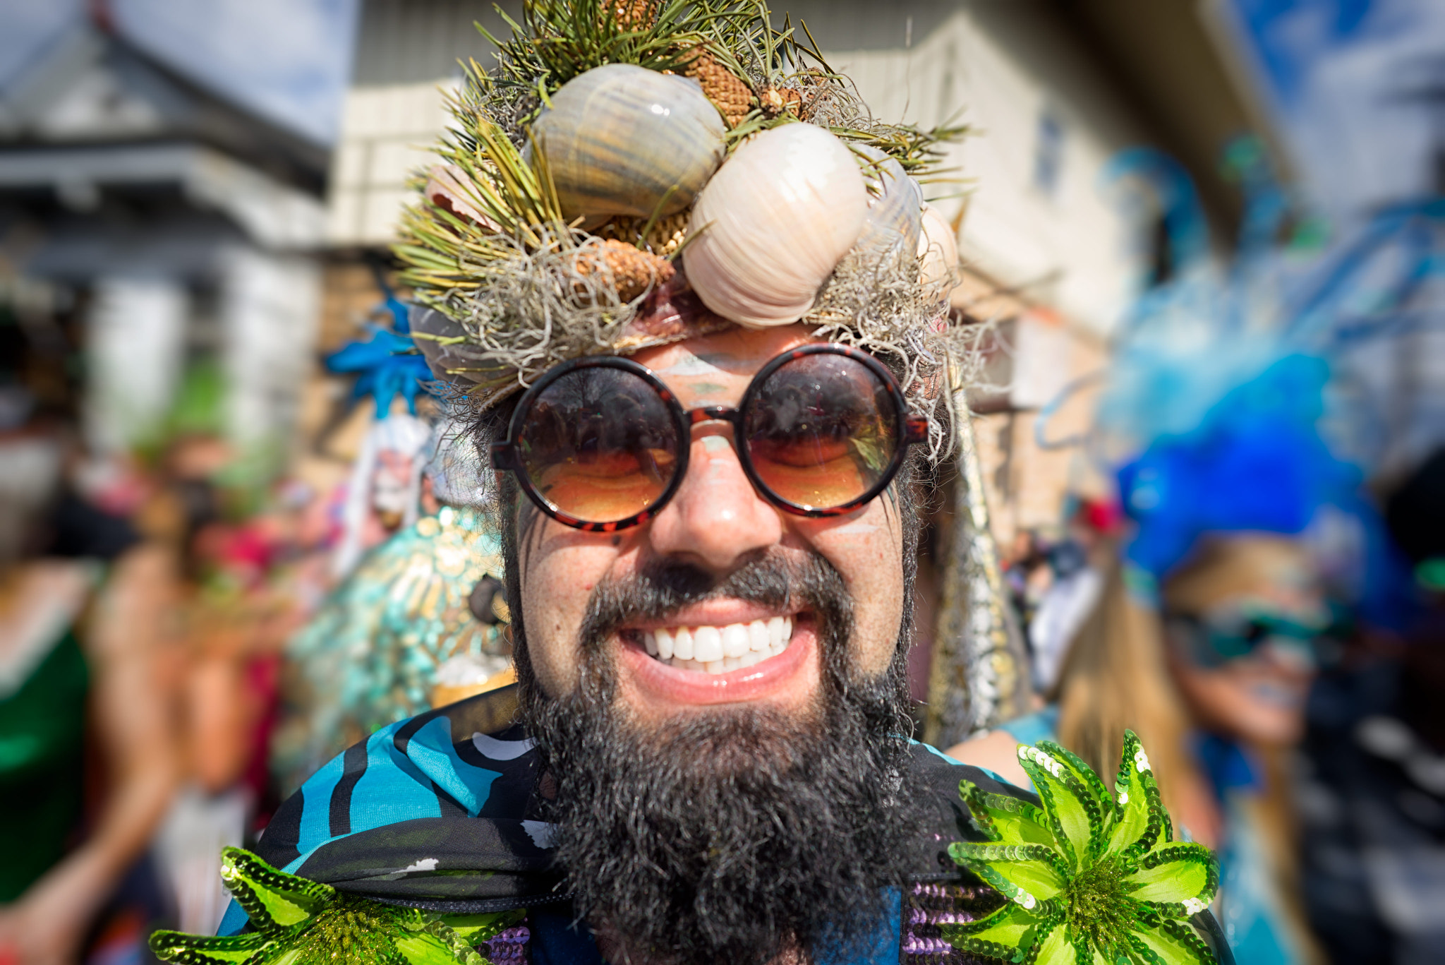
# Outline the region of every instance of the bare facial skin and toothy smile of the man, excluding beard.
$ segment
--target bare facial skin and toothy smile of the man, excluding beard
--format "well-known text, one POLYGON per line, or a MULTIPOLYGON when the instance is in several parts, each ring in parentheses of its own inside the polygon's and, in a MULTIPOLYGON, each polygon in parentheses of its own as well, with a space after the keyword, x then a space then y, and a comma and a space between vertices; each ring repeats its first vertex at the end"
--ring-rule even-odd
MULTIPOLYGON (((734 328, 634 359, 657 373, 686 409, 736 407, 766 362, 806 341, 802 326, 734 328)), ((519 499, 520 603, 542 692, 559 697, 582 683, 584 625, 598 587, 627 584, 659 567, 683 567, 725 586, 730 574, 759 560, 798 569, 821 557, 831 566, 853 609, 848 676, 884 674, 905 598, 903 521, 893 490, 842 516, 799 516, 772 505, 749 482, 730 422, 694 425, 691 446, 686 477, 672 501, 652 521, 616 534, 565 527, 519 499)), ((604 652, 597 658, 611 666, 627 716, 656 725, 720 705, 790 715, 818 702, 819 613, 806 600, 704 596, 666 613, 623 621, 598 641, 604 652)))

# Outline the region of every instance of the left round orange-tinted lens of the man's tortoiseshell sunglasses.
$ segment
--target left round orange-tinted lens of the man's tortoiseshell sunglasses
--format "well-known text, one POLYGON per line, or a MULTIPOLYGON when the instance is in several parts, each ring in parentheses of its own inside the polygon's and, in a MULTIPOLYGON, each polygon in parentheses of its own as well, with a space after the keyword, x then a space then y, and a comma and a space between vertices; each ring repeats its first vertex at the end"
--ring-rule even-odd
POLYGON ((517 441, 536 490, 585 522, 647 509, 678 464, 668 405, 623 369, 577 369, 548 385, 532 399, 517 441))

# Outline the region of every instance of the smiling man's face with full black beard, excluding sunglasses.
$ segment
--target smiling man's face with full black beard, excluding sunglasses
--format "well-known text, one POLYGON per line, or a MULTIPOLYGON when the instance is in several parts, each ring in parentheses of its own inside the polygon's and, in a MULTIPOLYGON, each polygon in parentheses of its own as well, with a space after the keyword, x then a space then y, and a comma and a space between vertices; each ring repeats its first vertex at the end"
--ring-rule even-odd
MULTIPOLYGON (((806 341, 802 326, 731 330, 634 359, 685 409, 736 408, 754 373, 806 341)), ((762 496, 734 446, 733 422, 695 424, 672 499, 618 532, 516 499, 523 719, 551 778, 556 859, 608 961, 837 949, 879 927, 880 888, 919 861, 900 651, 907 476, 808 518, 762 496)))

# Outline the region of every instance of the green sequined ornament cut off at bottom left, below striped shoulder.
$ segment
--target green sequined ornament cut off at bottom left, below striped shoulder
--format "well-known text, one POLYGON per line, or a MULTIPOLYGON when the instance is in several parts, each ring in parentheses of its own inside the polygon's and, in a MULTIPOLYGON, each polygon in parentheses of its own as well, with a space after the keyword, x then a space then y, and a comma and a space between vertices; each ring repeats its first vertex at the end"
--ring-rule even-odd
POLYGON ((486 965, 473 945, 522 917, 501 911, 444 920, 276 871, 240 848, 221 852, 221 880, 256 930, 215 938, 156 932, 156 958, 182 965, 486 965))

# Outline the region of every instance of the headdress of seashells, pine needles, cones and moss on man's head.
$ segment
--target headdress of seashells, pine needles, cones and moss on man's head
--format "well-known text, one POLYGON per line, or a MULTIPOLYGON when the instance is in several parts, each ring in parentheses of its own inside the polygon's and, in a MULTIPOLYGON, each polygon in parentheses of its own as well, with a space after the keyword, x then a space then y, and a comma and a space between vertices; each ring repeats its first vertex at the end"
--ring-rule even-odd
POLYGON ((939 404, 958 256, 920 182, 961 127, 876 122, 757 1, 527 0, 509 23, 394 247, 439 378, 488 408, 568 359, 802 321, 939 404))

